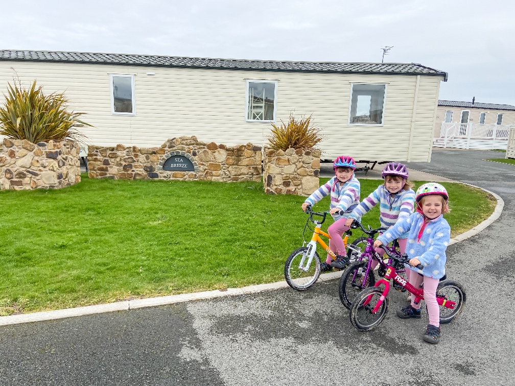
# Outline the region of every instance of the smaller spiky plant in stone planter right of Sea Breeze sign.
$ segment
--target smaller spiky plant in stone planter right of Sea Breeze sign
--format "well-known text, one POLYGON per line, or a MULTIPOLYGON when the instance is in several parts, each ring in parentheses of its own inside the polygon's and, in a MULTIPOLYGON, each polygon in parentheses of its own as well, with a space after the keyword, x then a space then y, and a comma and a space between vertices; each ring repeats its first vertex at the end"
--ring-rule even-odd
POLYGON ((313 149, 322 141, 320 135, 322 129, 311 125, 311 115, 307 118, 295 119, 290 113, 288 124, 281 120, 281 126, 272 124, 272 135, 268 137, 268 142, 273 150, 294 149, 313 149))

